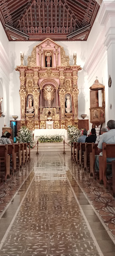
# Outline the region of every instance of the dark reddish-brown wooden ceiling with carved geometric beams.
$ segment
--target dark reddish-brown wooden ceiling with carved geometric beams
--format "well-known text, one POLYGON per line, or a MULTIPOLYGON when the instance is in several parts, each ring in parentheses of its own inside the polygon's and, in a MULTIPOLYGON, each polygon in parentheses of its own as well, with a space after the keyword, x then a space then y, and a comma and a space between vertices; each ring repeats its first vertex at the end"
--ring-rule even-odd
POLYGON ((87 40, 100 7, 97 2, 0 0, 0 19, 10 41, 87 40))

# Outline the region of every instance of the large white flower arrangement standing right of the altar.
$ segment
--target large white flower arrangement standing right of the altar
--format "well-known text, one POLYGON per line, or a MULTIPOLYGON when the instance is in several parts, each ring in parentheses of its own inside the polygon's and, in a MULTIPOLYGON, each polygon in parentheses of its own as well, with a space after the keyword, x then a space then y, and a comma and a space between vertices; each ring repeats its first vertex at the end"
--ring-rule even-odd
POLYGON ((82 135, 82 132, 76 128, 75 125, 69 125, 67 131, 69 133, 69 137, 71 138, 69 143, 77 142, 78 138, 82 135))

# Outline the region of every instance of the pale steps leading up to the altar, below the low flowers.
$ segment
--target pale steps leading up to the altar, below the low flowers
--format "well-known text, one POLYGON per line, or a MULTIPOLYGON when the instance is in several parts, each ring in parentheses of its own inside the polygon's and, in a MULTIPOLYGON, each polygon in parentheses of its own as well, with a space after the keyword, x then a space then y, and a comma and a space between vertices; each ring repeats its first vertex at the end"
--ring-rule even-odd
MULTIPOLYGON (((67 144, 69 141, 65 141, 67 144)), ((71 151, 71 147, 68 146, 65 143, 65 151, 71 151)), ((39 152, 48 152, 48 151, 63 151, 63 141, 62 142, 56 142, 56 143, 40 143, 38 144, 38 151, 39 152)), ((37 152, 37 145, 34 147, 34 149, 31 150, 31 152, 37 152)))

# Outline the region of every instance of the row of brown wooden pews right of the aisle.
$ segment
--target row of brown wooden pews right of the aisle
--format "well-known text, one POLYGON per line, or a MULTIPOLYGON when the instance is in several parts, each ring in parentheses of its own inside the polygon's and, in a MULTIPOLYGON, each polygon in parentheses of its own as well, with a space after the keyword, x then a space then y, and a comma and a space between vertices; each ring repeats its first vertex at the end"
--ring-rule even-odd
POLYGON ((103 156, 99 155, 98 144, 95 143, 77 143, 73 142, 71 145, 71 159, 75 161, 79 167, 84 169, 97 179, 99 176, 99 183, 104 184, 105 189, 113 191, 115 196, 115 161, 107 163, 107 158, 115 158, 115 144, 103 143, 102 153, 103 156), (99 155, 99 173, 95 172, 95 160, 99 155), (111 165, 112 168, 112 179, 107 180, 107 166, 111 165))

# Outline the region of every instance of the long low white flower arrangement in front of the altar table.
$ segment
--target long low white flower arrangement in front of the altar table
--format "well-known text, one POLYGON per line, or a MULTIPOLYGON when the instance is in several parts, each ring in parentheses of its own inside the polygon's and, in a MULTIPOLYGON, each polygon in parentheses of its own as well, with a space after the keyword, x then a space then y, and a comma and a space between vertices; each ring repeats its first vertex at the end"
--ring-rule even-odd
POLYGON ((40 143, 61 142, 61 141, 63 141, 63 138, 60 135, 41 135, 38 137, 38 141, 40 143))

